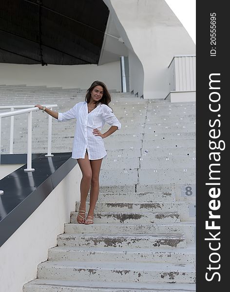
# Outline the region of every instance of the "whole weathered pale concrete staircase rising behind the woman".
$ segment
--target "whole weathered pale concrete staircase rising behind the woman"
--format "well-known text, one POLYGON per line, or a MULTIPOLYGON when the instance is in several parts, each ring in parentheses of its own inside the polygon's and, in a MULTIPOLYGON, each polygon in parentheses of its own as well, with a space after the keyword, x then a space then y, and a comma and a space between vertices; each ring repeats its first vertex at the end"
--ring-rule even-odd
MULTIPOLYGON (((18 102, 25 92, 24 104, 56 103, 58 111, 83 101, 85 94, 0 86, 0 101, 6 98, 1 104, 15 104, 13 99, 18 102)), ((115 91, 112 96, 110 106, 122 128, 104 140, 108 155, 100 172, 95 223, 77 224, 76 202, 64 234, 24 292, 195 291, 195 104, 115 91)), ((40 111, 34 114, 33 152, 46 151, 46 118, 40 111)), ((26 119, 16 125, 20 153, 26 147, 26 119)), ((71 151, 74 127, 75 121, 54 120, 53 152, 71 151)), ((3 134, 2 152, 7 143, 3 134)))

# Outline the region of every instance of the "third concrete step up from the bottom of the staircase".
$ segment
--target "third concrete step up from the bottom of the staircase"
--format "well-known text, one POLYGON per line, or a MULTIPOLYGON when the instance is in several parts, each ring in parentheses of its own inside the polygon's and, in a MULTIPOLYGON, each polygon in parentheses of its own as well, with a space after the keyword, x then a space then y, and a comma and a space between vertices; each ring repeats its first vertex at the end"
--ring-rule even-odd
POLYGON ((48 250, 51 261, 133 261, 161 263, 194 263, 195 245, 186 248, 118 248, 118 247, 68 247, 56 246, 48 250))

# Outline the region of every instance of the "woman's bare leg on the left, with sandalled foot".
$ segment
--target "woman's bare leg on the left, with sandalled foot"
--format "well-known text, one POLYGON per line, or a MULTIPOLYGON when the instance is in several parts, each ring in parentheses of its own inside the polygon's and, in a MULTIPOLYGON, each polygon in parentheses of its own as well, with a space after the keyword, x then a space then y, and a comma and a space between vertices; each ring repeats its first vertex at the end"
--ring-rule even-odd
MULTIPOLYGON (((77 163, 79 164, 80 170, 82 172, 82 179, 80 183, 80 195, 81 195, 81 201, 79 210, 85 210, 86 205, 86 198, 90 189, 90 183, 92 179, 92 169, 90 160, 88 157, 88 153, 86 151, 85 158, 84 159, 77 159, 77 163)), ((81 215, 82 216, 82 215, 81 215)), ((82 216, 84 217, 84 216, 82 216)), ((79 215, 77 215, 77 221, 79 223, 84 223, 85 219, 81 218, 79 215)))

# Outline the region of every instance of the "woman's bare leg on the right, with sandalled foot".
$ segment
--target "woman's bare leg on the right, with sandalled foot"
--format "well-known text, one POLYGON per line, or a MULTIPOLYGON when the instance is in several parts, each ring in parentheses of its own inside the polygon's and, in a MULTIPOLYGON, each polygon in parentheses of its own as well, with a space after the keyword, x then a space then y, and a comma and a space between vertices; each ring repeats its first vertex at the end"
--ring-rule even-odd
MULTIPOLYGON (((92 217, 89 219, 93 219, 94 217, 94 209, 96 206, 96 201, 98 199, 99 193, 99 173, 100 167, 102 163, 101 159, 90 160, 91 169, 92 169, 92 179, 91 179, 91 188, 90 188, 90 208, 88 212, 88 216, 92 217)), ((90 224, 90 221, 86 221, 85 224, 90 224)))

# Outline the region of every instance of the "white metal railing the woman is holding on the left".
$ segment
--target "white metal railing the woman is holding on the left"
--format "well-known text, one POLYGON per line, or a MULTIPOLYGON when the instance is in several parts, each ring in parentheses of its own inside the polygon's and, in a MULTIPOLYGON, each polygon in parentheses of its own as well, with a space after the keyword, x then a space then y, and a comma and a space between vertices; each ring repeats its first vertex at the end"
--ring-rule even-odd
MULTIPOLYGON (((58 105, 45 105, 48 109, 58 107, 58 105)), ((14 116, 19 114, 28 113, 28 130, 27 130, 27 168, 24 171, 34 171, 32 168, 32 112, 39 109, 34 105, 22 105, 22 106, 0 106, 0 110, 11 111, 0 113, 0 158, 1 158, 1 119, 5 117, 11 117, 10 123, 10 154, 13 154, 13 141, 14 141, 14 116), (22 110, 15 110, 22 109, 22 110)), ((52 116, 48 115, 48 150, 45 156, 53 156, 51 154, 51 142, 52 142, 52 116)))

